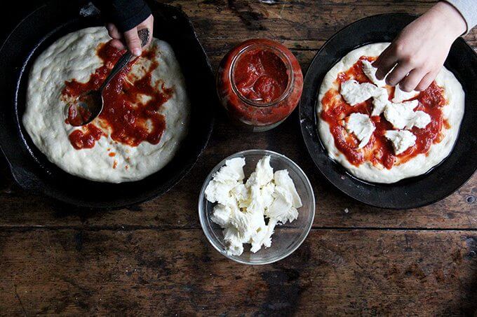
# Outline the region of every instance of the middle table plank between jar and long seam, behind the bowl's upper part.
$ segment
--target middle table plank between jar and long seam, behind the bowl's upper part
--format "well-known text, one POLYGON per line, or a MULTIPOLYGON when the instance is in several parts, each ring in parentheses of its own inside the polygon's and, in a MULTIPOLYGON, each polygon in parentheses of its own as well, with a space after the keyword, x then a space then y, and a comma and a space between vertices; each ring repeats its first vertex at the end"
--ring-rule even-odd
POLYGON ((412 211, 371 208, 342 195, 314 166, 302 141, 296 113, 277 129, 247 134, 229 125, 220 111, 212 139, 191 174, 166 195, 121 211, 86 211, 60 206, 7 186, 0 193, 2 226, 199 227, 197 201, 203 179, 215 164, 240 150, 267 148, 287 155, 304 169, 316 195, 316 227, 476 228, 477 176, 437 204, 412 211), (240 139, 240 142, 231 141, 240 139), (469 202, 467 201, 469 199, 469 202), (348 213, 345 211, 348 209, 348 213))

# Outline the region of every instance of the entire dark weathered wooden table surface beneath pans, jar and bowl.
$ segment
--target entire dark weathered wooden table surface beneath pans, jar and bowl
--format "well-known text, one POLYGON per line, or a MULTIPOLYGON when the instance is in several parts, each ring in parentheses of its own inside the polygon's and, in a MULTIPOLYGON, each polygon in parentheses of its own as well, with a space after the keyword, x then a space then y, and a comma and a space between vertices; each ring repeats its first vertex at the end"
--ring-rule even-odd
MULTIPOLYGON (((285 43, 306 71, 335 31, 377 13, 423 13, 434 1, 168 1, 192 19, 214 70, 253 37, 285 43)), ((477 47, 477 31, 465 36, 477 47)), ((262 134, 220 113, 192 172, 166 195, 120 211, 65 208, 13 184, 1 162, 0 314, 473 314, 477 176, 441 202, 375 209, 340 194, 309 157, 297 113, 262 134), (203 235, 197 199, 224 157, 267 148, 295 160, 316 194, 304 244, 273 265, 227 260, 203 235)), ((458 171, 456 171, 458 172, 458 171)))

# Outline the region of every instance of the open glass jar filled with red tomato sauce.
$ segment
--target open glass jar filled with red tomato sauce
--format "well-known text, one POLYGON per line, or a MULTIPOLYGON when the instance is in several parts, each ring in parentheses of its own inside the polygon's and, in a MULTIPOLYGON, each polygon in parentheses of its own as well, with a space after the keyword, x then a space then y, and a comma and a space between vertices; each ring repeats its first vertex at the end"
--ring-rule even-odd
POLYGON ((251 39, 233 48, 217 71, 217 93, 230 118, 254 132, 279 125, 296 108, 303 74, 288 48, 251 39))

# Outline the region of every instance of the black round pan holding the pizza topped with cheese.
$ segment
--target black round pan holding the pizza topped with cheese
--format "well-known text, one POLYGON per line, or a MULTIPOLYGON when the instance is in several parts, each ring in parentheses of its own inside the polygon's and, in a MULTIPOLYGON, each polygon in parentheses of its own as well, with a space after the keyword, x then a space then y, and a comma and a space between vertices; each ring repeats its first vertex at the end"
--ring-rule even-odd
POLYGON ((452 153, 427 174, 391 185, 360 181, 328 157, 318 137, 316 100, 323 77, 354 48, 376 42, 392 41, 415 19, 407 14, 366 17, 332 36, 314 57, 304 80, 300 102, 300 125, 308 151, 316 167, 333 185, 349 197, 372 206, 412 209, 437 202, 460 188, 477 169, 477 55, 459 38, 450 50, 445 66, 464 87, 466 105, 459 138, 452 153))

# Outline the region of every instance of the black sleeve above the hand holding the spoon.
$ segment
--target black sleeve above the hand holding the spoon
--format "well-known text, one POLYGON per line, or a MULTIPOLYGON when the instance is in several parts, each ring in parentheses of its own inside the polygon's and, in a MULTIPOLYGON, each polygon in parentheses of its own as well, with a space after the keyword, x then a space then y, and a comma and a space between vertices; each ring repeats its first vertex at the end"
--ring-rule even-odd
POLYGON ((121 32, 133 29, 151 14, 143 0, 93 0, 93 3, 107 22, 116 24, 121 32))

